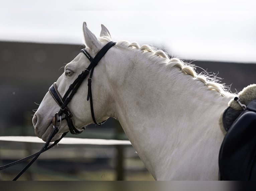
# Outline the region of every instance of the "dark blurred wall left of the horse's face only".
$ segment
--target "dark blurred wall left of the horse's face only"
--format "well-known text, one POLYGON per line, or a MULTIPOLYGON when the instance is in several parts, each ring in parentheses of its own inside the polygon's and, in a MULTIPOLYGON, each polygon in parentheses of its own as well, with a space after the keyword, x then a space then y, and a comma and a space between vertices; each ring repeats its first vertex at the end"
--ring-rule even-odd
POLYGON ((23 124, 24 112, 33 114, 32 109, 38 107, 34 102, 41 102, 63 73, 60 68, 81 49, 77 45, 0 42, 0 125, 23 124))

